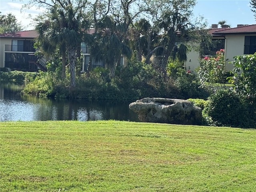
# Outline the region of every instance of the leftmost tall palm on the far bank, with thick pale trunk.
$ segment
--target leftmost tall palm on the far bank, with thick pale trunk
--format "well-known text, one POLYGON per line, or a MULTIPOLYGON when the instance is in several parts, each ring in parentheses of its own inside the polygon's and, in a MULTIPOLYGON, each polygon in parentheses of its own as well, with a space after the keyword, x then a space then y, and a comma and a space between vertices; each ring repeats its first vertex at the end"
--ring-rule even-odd
MULTIPOLYGON (((39 6, 48 7, 48 18, 39 22, 37 28, 40 29, 39 40, 49 42, 51 45, 65 46, 70 68, 70 87, 76 86, 75 65, 84 34, 90 27, 86 8, 90 4, 87 0, 56 0, 52 4, 45 0, 32 0, 26 6, 34 3, 39 6), (49 9, 50 8, 50 9, 49 9)), ((63 52, 64 53, 64 50, 63 52)))

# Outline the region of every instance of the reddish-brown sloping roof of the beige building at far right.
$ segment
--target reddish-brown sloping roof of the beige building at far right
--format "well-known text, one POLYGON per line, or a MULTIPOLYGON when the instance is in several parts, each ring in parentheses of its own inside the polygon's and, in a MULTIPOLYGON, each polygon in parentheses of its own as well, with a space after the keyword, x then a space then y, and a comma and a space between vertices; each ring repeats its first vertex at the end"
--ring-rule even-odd
POLYGON ((234 28, 224 28, 222 30, 216 30, 212 32, 214 35, 221 34, 256 34, 256 24, 253 25, 245 25, 234 28))

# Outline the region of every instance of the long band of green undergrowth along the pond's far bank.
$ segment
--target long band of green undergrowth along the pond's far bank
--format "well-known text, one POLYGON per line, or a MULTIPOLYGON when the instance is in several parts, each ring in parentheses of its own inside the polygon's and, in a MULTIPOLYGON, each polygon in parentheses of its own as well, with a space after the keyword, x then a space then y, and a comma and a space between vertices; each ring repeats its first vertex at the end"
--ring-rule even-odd
MULTIPOLYGON (((59 66, 61 61, 59 62, 59 66)), ((180 69, 181 71, 183 69, 180 69)), ((207 98, 208 93, 199 87, 195 75, 183 70, 175 78, 170 74, 166 78, 150 64, 128 62, 126 67, 119 67, 116 76, 110 77, 109 70, 101 67, 76 79, 77 87, 69 88, 69 73, 61 80, 58 66, 53 71, 40 72, 36 78, 26 83, 24 93, 38 96, 86 99, 136 100, 143 97, 164 98, 207 98)))

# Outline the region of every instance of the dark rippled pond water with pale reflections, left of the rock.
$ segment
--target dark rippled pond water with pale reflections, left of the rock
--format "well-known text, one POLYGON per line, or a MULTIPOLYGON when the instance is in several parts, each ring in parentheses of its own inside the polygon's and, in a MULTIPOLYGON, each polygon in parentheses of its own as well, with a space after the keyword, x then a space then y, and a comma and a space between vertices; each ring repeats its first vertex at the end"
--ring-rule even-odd
POLYGON ((21 85, 0 82, 1 121, 126 120, 137 121, 130 102, 112 100, 48 99, 20 94, 21 85))

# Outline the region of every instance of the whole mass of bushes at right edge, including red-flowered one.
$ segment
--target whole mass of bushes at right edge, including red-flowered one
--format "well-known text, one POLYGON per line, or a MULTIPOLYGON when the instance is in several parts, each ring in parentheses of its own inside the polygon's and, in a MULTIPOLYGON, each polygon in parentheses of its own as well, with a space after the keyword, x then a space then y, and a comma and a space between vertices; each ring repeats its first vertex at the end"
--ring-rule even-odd
POLYGON ((235 61, 232 62, 235 68, 228 78, 224 63, 222 49, 216 52, 215 57, 204 57, 200 62, 198 76, 201 87, 211 92, 203 110, 204 123, 217 126, 255 127, 256 55, 236 56, 235 61), (234 85, 226 86, 227 79, 234 85))

